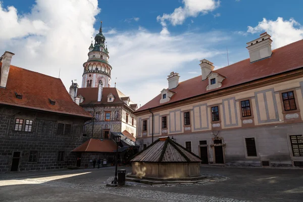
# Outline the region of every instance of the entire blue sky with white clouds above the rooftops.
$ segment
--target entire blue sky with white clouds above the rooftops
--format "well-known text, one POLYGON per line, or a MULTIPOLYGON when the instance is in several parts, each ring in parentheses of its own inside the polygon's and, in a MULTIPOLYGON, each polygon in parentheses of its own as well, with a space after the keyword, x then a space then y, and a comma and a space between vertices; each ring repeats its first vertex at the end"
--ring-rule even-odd
MULTIPOLYGON (((246 42, 267 31, 272 48, 303 38, 300 0, 6 0, 0 1, 0 55, 12 65, 81 85, 91 37, 103 21, 112 87, 138 106, 168 87, 249 57, 246 42), (227 60, 228 50, 228 60, 227 60), (117 79, 116 79, 117 78, 117 79)), ((80 86, 81 87, 81 86, 80 86)))

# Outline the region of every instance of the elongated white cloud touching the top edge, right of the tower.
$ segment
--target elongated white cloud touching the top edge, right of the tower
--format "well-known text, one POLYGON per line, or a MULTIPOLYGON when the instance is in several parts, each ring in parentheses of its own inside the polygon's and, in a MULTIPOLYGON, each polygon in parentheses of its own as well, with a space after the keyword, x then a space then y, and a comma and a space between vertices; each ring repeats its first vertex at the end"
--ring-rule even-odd
POLYGON ((220 1, 216 0, 183 0, 182 3, 183 7, 176 8, 171 14, 158 16, 157 21, 160 21, 163 27, 167 27, 166 21, 173 26, 181 25, 187 17, 197 17, 200 13, 207 14, 220 6, 220 1))

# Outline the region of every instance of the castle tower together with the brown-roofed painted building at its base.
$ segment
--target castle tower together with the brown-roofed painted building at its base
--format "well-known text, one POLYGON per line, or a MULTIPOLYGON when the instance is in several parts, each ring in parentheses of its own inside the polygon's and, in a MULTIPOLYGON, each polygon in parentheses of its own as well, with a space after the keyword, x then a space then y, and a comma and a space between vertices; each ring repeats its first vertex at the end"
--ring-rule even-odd
POLYGON ((105 46, 102 23, 95 35, 94 44, 89 46, 88 60, 83 64, 82 87, 77 83, 70 86, 70 95, 93 117, 85 124, 84 134, 93 138, 109 138, 110 131, 136 134, 137 109, 129 96, 116 87, 111 87, 112 66, 109 64, 109 51, 105 46))

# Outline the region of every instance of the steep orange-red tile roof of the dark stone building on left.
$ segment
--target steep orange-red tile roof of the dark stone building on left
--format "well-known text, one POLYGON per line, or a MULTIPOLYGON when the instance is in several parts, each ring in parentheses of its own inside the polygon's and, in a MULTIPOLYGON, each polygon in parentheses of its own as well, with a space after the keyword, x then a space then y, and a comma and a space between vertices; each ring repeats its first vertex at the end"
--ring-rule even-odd
MULTIPOLYGON (((1 72, 2 63, 0 63, 1 72)), ((11 65, 6 88, 0 88, 0 105, 55 112, 91 118, 91 115, 75 104, 61 79, 11 65), (18 99, 15 92, 21 93, 18 99), (49 103, 48 98, 56 101, 49 103)))

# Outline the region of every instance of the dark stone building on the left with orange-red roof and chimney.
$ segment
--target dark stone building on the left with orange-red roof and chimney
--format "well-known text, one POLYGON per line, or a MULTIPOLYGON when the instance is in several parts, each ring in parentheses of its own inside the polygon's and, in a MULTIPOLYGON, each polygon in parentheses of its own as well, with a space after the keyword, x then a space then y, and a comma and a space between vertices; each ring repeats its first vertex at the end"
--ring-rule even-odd
POLYGON ((61 79, 12 66, 0 58, 0 172, 76 166, 90 114, 76 105, 61 79))

